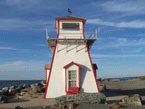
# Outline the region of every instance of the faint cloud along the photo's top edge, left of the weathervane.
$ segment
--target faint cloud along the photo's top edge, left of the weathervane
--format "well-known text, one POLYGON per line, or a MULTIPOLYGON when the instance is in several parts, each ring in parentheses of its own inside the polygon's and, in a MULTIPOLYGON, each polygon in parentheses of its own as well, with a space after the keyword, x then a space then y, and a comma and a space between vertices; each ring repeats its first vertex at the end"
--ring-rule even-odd
MULTIPOLYGON (((7 6, 9 8, 14 8, 18 12, 25 11, 25 12, 35 12, 35 11, 49 11, 49 10, 56 10, 56 9, 64 9, 67 1, 66 0, 3 0, 1 2, 3 6, 7 6)), ((43 13, 43 12, 42 12, 43 13)))

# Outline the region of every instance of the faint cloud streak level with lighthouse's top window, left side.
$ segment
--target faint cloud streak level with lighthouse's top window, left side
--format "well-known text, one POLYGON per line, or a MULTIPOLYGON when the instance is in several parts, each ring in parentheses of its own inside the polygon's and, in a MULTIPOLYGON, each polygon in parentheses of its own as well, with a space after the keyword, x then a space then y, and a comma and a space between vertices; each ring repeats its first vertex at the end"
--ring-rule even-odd
POLYGON ((20 20, 20 19, 0 19, 0 30, 33 30, 44 29, 48 25, 54 24, 52 21, 45 20, 20 20))

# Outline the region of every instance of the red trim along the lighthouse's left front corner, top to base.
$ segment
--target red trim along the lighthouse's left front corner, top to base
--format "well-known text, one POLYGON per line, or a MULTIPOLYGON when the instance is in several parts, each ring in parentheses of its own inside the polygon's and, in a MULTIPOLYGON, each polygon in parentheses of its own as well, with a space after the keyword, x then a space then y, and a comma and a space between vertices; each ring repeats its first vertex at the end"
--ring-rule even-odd
MULTIPOLYGON (((58 21, 58 34, 57 34, 57 38, 59 37, 59 32, 60 31, 59 31, 59 21, 58 21)), ((47 94, 47 90, 48 90, 49 80, 50 80, 50 76, 51 76, 51 70, 52 70, 53 61, 54 61, 55 52, 56 52, 56 46, 57 46, 57 42, 55 43, 53 57, 52 57, 52 61, 51 61, 50 71, 49 71, 49 76, 48 76, 48 80, 46 82, 46 89, 45 89, 44 99, 46 99, 46 94, 47 94)))

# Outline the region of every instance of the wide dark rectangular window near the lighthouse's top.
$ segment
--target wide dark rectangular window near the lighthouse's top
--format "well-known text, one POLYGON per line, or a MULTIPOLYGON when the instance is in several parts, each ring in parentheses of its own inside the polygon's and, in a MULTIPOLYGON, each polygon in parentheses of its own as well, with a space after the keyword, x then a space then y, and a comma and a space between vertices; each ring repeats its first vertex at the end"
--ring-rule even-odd
POLYGON ((79 25, 79 23, 63 23, 62 29, 64 29, 64 30, 79 30, 80 25, 79 25))

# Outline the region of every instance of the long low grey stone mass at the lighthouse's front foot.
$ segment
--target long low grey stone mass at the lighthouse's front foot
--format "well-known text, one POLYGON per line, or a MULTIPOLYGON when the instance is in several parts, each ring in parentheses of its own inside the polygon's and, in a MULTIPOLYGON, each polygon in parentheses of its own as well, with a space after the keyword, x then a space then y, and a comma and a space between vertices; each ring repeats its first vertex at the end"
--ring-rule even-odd
POLYGON ((90 104, 104 104, 106 97, 104 94, 99 93, 82 93, 82 94, 72 94, 64 95, 55 98, 55 104, 68 104, 70 102, 80 104, 80 103, 90 103, 90 104))

